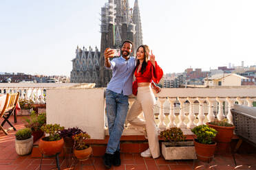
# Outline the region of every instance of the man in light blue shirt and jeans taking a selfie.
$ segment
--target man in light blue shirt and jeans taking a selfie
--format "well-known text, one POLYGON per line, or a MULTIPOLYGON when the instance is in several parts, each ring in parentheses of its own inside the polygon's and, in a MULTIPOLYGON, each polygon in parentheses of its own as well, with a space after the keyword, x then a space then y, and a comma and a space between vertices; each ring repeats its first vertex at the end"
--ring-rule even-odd
POLYGON ((121 56, 114 57, 114 50, 105 49, 105 67, 113 71, 112 78, 106 90, 107 123, 109 127, 109 141, 103 157, 104 165, 120 166, 120 138, 124 129, 127 111, 129 109, 128 96, 132 93, 133 73, 136 58, 131 57, 133 43, 126 40, 122 43, 121 56))

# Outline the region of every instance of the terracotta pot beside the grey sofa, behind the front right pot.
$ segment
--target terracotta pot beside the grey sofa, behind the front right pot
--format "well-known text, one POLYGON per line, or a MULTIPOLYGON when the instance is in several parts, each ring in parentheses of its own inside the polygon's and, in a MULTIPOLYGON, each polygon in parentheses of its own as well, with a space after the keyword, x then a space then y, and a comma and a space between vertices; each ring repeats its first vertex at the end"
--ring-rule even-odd
POLYGON ((233 137, 233 131, 235 126, 225 127, 225 126, 218 126, 218 125, 211 125, 210 123, 206 123, 213 129, 217 130, 217 135, 214 138, 214 141, 217 143, 230 143, 233 137))

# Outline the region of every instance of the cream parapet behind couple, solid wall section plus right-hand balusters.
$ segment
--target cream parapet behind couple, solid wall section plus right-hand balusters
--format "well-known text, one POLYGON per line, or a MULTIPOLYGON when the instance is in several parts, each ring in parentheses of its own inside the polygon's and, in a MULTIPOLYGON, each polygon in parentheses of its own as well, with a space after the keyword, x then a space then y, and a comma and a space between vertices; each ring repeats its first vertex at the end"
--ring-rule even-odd
MULTIPOLYGON (((108 130, 104 93, 104 88, 50 88, 47 90, 47 123, 80 127, 92 138, 105 138, 108 130)), ((165 130, 178 126, 190 132, 195 125, 213 119, 226 118, 232 123, 230 109, 233 104, 253 106, 256 88, 162 88, 156 97, 158 127, 165 130)), ((129 103, 130 106, 134 103, 134 96, 130 97, 129 103)), ((123 135, 138 134, 142 133, 129 123, 125 124, 123 135)))

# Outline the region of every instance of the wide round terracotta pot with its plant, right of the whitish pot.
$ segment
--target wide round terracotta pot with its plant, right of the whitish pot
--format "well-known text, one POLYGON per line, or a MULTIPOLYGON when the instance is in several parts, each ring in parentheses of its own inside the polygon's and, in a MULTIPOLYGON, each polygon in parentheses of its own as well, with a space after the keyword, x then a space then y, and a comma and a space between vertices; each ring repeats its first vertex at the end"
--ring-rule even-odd
POLYGON ((64 140, 59 132, 63 129, 64 127, 61 127, 59 124, 49 124, 41 127, 43 132, 49 134, 49 136, 41 138, 39 141, 39 150, 42 154, 51 156, 61 152, 64 140))

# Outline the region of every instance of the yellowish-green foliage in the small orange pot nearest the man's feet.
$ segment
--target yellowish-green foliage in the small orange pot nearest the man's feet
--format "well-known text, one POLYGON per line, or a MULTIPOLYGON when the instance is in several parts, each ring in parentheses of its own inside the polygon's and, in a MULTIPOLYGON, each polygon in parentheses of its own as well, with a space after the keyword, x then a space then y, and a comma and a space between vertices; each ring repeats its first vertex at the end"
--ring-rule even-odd
POLYGON ((76 150, 83 150, 89 147, 89 145, 86 144, 86 141, 88 138, 91 138, 91 136, 89 136, 87 132, 75 134, 72 138, 74 139, 74 148, 76 150))

